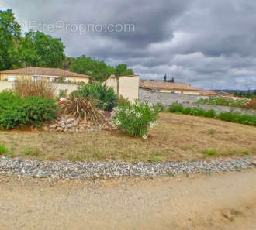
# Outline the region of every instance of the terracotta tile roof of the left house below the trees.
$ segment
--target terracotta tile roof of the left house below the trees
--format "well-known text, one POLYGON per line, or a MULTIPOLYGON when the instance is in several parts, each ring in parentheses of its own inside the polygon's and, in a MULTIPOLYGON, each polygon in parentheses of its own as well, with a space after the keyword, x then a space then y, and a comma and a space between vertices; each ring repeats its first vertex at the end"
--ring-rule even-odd
POLYGON ((15 70, 0 71, 0 74, 34 74, 45 76, 57 76, 57 77, 89 77, 85 74, 78 74, 68 70, 61 70, 59 68, 43 68, 43 67, 26 67, 15 70))

